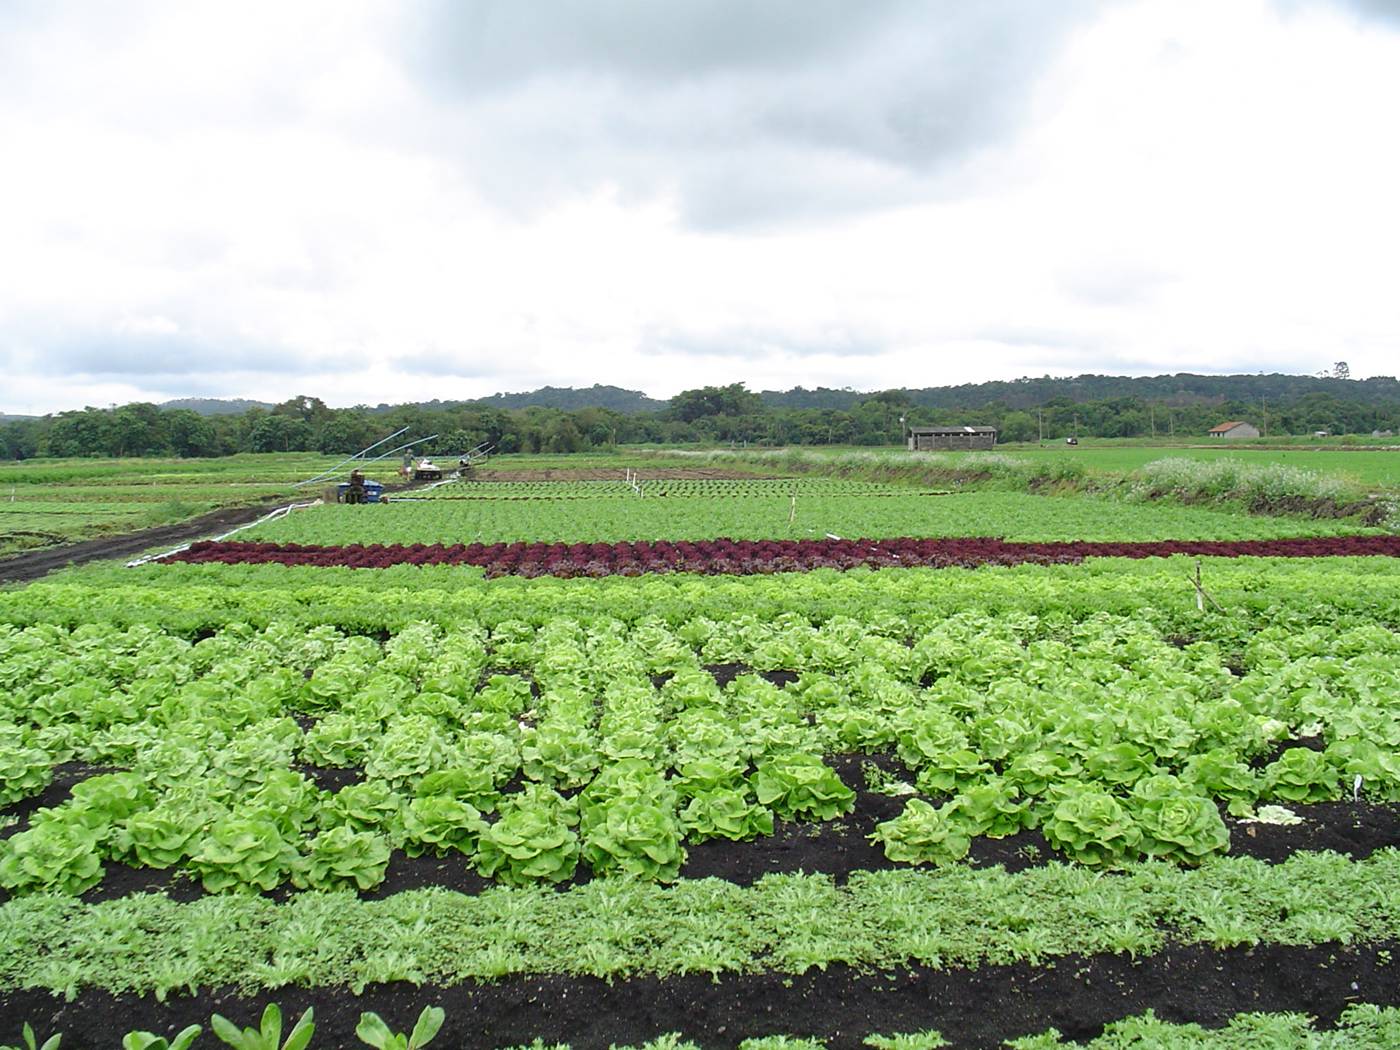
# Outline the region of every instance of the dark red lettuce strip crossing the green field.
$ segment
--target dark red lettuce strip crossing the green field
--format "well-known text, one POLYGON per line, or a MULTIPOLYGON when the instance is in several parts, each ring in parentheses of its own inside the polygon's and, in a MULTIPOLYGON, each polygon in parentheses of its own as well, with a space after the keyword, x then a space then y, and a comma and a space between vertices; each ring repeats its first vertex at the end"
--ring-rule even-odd
POLYGON ((347 568, 479 566, 489 577, 601 577, 645 573, 792 573, 809 568, 1064 564, 1086 557, 1400 557, 1400 536, 1329 536, 1135 543, 1008 543, 1000 539, 708 539, 623 543, 301 543, 202 542, 169 561, 347 568))

